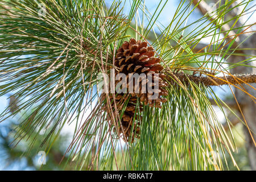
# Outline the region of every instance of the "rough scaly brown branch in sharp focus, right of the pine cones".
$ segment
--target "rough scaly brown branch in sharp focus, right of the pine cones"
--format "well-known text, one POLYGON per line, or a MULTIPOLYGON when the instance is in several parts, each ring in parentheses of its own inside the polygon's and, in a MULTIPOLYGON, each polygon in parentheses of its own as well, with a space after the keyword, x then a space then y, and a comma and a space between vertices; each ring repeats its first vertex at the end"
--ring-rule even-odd
POLYGON ((196 76, 188 75, 183 72, 180 73, 166 73, 167 80, 171 85, 175 85, 177 78, 185 85, 190 85, 189 82, 193 81, 196 84, 204 84, 205 86, 220 86, 228 84, 250 84, 256 82, 256 74, 247 75, 230 75, 230 76, 196 76), (176 77, 176 78, 175 78, 176 77))

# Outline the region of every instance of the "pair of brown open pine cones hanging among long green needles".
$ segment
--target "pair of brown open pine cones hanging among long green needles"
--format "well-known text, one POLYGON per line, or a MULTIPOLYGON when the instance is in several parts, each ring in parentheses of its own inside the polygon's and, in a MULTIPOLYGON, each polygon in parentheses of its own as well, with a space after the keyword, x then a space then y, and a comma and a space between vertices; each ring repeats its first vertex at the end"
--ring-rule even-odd
MULTIPOLYGON (((144 73, 147 78, 151 77, 152 83, 148 82, 147 84, 152 84, 152 88, 157 84, 155 80, 159 81, 159 89, 156 90, 158 92, 158 97, 154 100, 150 98, 154 93, 149 93, 146 86, 146 93, 142 93, 142 84, 144 82, 140 81, 139 85, 133 85, 134 89, 139 86, 139 93, 128 93, 130 94, 129 102, 126 106, 125 112, 121 118, 121 125, 119 126, 119 133, 123 134, 123 137, 128 141, 131 137, 131 142, 134 141, 134 138, 139 138, 140 133, 140 123, 138 122, 138 115, 135 114, 135 108, 137 104, 137 100, 139 101, 140 111, 143 111, 143 103, 144 105, 149 105, 150 107, 160 107, 161 103, 166 102, 166 98, 162 98, 161 96, 166 96, 168 92, 164 90, 164 86, 167 86, 167 83, 163 80, 165 75, 161 73, 163 67, 160 63, 160 59, 154 57, 154 50, 151 46, 147 46, 146 42, 141 42, 141 40, 136 41, 135 39, 130 39, 129 42, 124 42, 122 46, 117 50, 117 54, 115 56, 115 67, 119 68, 119 71, 116 73, 125 73, 127 75, 127 92, 129 90, 129 82, 128 75, 129 73, 144 73), (159 75, 157 75, 158 73, 159 75), (137 99, 138 98, 138 99, 137 99), (135 117, 134 127, 133 120, 135 117)), ((119 81, 115 81, 115 85, 117 85, 119 81)), ((116 95, 116 94, 115 94, 116 95)), ((109 94, 110 98, 112 98, 112 94, 109 94)), ((118 113, 123 107, 123 97, 126 94, 117 94, 115 96, 115 102, 117 104, 118 113)), ((103 98, 103 97, 102 97, 103 98)), ((112 103, 112 109, 114 110, 114 103, 112 103)), ((106 110, 106 108, 105 108, 106 110)), ((106 110, 108 112, 108 110, 106 110)), ((112 119, 109 119, 110 121, 112 119)), ((112 122, 112 124, 114 124, 112 122)), ((118 126, 118 123, 116 123, 118 126)))

